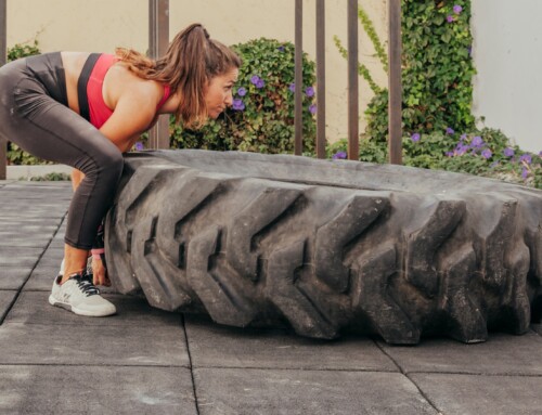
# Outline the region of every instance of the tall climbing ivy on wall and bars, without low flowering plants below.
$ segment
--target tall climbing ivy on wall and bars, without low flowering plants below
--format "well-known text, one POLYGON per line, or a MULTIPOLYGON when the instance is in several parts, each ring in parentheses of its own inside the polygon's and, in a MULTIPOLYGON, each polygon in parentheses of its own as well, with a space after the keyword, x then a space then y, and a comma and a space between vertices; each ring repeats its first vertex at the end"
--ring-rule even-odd
MULTIPOLYGON (((382 42, 366 12, 361 7, 359 10, 361 25, 387 72, 382 42)), ((472 80, 476 70, 469 21, 470 0, 402 0, 402 120, 406 133, 474 128, 472 80)), ((346 56, 337 38, 335 42, 346 56)), ((365 112, 365 132, 386 141, 388 90, 374 82, 364 65, 359 65, 359 72, 375 93, 365 112)))

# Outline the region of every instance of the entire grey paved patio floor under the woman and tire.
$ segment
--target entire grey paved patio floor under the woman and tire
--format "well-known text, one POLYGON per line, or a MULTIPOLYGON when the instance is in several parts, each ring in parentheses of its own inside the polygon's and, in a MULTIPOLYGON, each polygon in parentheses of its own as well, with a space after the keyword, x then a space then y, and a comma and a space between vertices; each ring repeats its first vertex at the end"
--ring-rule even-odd
POLYGON ((49 306, 67 182, 0 181, 0 414, 542 414, 542 327, 480 345, 317 341, 166 313, 49 306))

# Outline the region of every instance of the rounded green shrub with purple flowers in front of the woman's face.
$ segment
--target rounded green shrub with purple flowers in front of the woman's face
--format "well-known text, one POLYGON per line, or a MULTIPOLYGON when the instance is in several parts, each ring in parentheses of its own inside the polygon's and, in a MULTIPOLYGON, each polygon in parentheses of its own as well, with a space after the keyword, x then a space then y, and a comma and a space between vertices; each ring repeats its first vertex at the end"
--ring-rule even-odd
MULTIPOLYGON (((171 147, 291 153, 294 150, 294 44, 256 39, 232 47, 242 57, 233 107, 197 131, 171 122, 171 147)), ((304 55, 304 150, 314 148, 314 63, 304 55)))

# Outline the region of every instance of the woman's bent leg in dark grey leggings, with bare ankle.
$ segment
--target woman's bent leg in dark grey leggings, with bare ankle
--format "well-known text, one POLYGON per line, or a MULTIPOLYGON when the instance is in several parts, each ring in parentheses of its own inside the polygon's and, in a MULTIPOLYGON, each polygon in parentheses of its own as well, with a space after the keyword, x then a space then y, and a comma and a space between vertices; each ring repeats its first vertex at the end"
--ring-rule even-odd
POLYGON ((2 104, 8 104, 0 108, 2 135, 37 157, 85 174, 68 210, 65 281, 86 268, 98 226, 113 203, 122 156, 82 117, 44 94, 39 82, 23 78, 12 89, 11 95, 2 93, 2 104))

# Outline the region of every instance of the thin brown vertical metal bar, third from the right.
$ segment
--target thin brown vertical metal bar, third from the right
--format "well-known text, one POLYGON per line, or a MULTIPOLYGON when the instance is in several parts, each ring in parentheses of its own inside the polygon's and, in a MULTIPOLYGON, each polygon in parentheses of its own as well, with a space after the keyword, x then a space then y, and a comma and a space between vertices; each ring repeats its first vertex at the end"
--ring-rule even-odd
POLYGON ((325 0, 317 0, 317 157, 325 158, 325 0))

